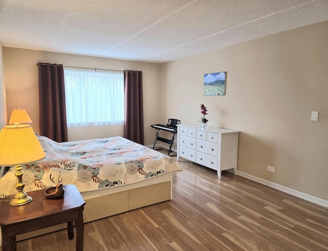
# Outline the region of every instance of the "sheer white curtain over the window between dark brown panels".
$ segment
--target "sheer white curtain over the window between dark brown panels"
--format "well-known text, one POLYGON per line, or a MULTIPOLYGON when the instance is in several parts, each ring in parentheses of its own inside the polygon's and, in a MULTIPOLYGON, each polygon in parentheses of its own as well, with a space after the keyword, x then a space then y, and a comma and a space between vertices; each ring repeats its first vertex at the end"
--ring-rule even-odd
POLYGON ((123 72, 64 68, 67 126, 124 122, 123 72))

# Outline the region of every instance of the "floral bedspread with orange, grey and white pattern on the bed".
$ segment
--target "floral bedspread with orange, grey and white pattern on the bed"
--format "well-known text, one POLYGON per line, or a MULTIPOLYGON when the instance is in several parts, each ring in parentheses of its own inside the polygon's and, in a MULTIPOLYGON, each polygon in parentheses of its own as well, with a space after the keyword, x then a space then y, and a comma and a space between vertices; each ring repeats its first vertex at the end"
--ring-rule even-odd
MULTIPOLYGON (((42 161, 22 165, 24 191, 74 184, 81 191, 142 181, 182 170, 171 157, 122 137, 57 143, 38 136, 42 161)), ((14 167, 0 179, 0 198, 17 192, 14 167)))

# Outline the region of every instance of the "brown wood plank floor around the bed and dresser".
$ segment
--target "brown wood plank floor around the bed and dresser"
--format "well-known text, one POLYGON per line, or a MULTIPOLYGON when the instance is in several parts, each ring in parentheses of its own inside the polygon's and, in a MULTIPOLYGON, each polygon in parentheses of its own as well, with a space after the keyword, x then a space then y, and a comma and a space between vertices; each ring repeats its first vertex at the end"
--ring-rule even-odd
MULTIPOLYGON (((85 224, 84 250, 328 250, 328 208, 179 161, 173 200, 85 224)), ((17 251, 75 250, 67 231, 17 242, 17 251)))

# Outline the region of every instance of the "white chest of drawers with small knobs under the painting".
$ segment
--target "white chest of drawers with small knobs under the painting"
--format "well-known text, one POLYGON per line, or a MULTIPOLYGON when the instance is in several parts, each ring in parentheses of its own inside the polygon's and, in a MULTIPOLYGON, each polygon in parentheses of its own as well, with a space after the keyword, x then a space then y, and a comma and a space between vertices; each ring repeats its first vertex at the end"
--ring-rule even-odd
POLYGON ((177 161, 185 158, 221 171, 233 169, 237 174, 238 133, 236 130, 200 125, 178 125, 177 161))

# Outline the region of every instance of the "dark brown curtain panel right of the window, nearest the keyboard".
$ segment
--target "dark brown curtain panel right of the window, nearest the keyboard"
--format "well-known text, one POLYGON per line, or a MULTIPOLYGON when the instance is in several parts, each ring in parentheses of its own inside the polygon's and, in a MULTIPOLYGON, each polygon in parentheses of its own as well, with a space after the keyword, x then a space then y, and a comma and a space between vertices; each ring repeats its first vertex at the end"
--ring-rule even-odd
POLYGON ((124 71, 124 138, 144 145, 142 71, 124 71))

